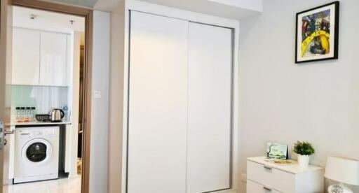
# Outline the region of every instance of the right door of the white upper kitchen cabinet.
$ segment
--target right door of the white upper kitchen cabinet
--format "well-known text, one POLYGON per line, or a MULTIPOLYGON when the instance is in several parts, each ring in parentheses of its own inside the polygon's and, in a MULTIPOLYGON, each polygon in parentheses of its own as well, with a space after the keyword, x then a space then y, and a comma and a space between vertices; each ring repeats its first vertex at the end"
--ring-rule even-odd
POLYGON ((67 34, 41 31, 40 85, 67 85, 67 34))

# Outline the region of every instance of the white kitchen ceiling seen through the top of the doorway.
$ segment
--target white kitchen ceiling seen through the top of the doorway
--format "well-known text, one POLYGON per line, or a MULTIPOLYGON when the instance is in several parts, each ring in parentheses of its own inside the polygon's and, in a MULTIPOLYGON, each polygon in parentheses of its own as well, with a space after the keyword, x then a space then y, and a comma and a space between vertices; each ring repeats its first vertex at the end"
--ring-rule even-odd
POLYGON ((72 33, 85 31, 85 18, 33 8, 13 7, 13 26, 72 33), (36 15, 34 19, 30 15, 36 15), (72 24, 70 21, 74 21, 72 24))

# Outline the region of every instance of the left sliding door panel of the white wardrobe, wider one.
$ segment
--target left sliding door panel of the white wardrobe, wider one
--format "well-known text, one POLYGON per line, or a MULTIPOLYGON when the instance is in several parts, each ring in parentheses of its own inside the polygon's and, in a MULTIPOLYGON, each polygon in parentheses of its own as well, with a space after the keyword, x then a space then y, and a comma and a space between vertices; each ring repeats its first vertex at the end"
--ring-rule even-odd
POLYGON ((186 192, 188 22, 131 11, 128 193, 186 192))

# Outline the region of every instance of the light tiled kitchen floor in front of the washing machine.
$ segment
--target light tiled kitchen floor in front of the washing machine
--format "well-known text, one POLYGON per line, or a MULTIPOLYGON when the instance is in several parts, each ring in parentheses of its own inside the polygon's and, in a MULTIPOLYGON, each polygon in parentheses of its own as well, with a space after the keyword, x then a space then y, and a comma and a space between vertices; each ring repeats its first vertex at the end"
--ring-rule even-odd
POLYGON ((4 193, 80 193, 81 176, 35 183, 4 185, 4 193))

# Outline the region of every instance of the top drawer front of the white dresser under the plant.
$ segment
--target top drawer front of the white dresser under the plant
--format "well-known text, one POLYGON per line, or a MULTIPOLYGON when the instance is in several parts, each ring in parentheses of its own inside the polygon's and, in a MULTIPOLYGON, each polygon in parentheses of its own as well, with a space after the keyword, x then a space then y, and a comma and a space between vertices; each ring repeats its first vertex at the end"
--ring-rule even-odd
POLYGON ((273 169, 252 161, 247 161, 247 167, 247 178, 249 181, 252 180, 255 183, 271 187, 279 192, 295 192, 295 176, 293 173, 273 169))

